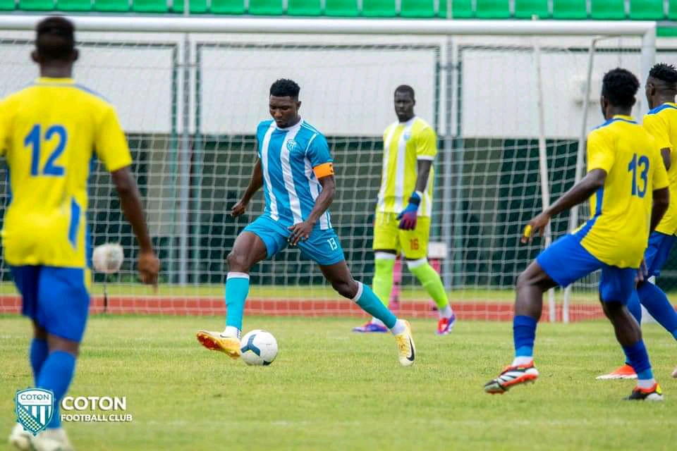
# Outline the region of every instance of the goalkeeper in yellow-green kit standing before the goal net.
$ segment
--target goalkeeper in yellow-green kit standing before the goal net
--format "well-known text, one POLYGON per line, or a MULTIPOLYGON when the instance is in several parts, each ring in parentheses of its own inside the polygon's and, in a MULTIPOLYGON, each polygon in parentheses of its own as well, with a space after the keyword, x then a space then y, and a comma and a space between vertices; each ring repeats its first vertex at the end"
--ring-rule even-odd
MULTIPOLYGON (((394 101, 398 121, 389 125, 383 134, 383 172, 374 221, 373 290, 381 302, 388 303, 395 260, 401 252, 409 270, 437 304, 437 334, 446 335, 451 332, 456 316, 439 274, 427 260, 434 180, 432 162, 437 155, 437 135, 427 122, 415 116, 412 87, 397 87, 394 101)), ((387 332, 388 329, 372 318, 353 331, 387 332)))

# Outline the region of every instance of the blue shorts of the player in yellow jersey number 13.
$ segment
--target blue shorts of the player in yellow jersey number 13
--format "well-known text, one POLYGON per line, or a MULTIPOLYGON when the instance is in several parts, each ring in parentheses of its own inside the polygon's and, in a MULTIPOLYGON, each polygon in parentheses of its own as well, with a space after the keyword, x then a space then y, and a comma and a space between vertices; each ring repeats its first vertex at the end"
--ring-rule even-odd
POLYGON ((536 261, 557 285, 566 287, 588 274, 602 270, 599 299, 602 302, 628 303, 635 290, 636 268, 618 268, 599 261, 575 235, 565 235, 538 254, 536 261))

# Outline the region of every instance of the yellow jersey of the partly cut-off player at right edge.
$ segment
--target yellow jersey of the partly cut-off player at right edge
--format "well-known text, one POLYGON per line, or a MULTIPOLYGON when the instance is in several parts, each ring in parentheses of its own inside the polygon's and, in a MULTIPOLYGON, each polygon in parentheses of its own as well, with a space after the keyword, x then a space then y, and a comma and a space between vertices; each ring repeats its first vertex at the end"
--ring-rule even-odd
POLYGON ((644 116, 642 125, 654 137, 659 149, 670 149, 670 205, 656 231, 673 235, 677 232, 677 104, 667 102, 657 106, 644 116))

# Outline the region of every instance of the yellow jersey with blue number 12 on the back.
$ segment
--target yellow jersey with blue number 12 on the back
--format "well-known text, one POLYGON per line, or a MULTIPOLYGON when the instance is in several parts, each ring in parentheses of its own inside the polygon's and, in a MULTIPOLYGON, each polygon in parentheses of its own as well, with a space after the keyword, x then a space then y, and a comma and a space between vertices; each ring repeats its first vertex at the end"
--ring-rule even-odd
POLYGON ((38 78, 0 101, 0 154, 10 188, 5 261, 84 268, 93 156, 108 171, 132 162, 111 104, 71 78, 38 78))

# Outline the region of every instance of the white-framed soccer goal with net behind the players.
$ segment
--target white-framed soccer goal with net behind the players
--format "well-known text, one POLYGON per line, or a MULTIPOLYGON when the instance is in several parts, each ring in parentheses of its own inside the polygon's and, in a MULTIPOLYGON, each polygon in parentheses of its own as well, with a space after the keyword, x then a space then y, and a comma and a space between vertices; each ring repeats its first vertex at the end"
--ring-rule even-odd
MULTIPOLYGON (((0 94, 37 76, 30 62, 38 16, 0 17, 0 94)), ((606 70, 643 81, 654 63, 655 23, 343 20, 77 16, 78 82, 102 93, 128 132, 134 171, 162 260, 157 293, 135 281, 133 235, 109 176, 90 180, 94 245, 120 242, 123 270, 108 276, 107 309, 166 314, 224 311, 225 257, 262 212, 228 213, 248 183, 254 131, 268 118, 277 78, 301 86, 301 113, 327 135, 338 192, 332 223, 355 278, 373 275, 372 229, 382 170, 382 132, 396 121, 396 86, 414 87, 415 112, 439 136, 430 259, 461 319, 511 318, 516 277, 537 252, 587 218, 585 207, 520 245, 525 223, 585 171, 585 135, 603 122, 606 70)), ((635 116, 647 111, 640 92, 635 116)), ((5 183, 0 184, 4 201, 5 183)), ((405 266, 396 307, 432 316, 405 266)), ((6 266, 0 311, 18 299, 6 266)), ((596 276, 549 293, 550 321, 599 316, 596 276)), ((101 311, 104 275, 94 277, 101 311)), ((288 250, 252 271, 250 313, 359 314, 321 273, 288 250)))

